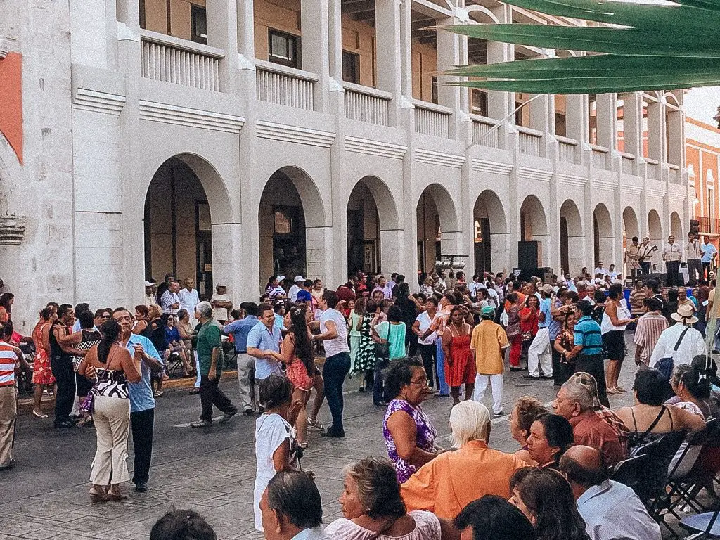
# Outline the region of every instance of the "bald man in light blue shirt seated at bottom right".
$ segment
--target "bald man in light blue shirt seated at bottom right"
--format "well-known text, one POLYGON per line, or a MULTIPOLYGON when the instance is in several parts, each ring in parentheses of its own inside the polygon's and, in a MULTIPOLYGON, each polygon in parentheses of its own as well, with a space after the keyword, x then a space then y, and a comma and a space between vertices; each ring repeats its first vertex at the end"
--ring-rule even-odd
POLYGON ((603 454, 591 446, 571 446, 560 459, 593 540, 660 540, 660 526, 630 487, 608 477, 603 454))

